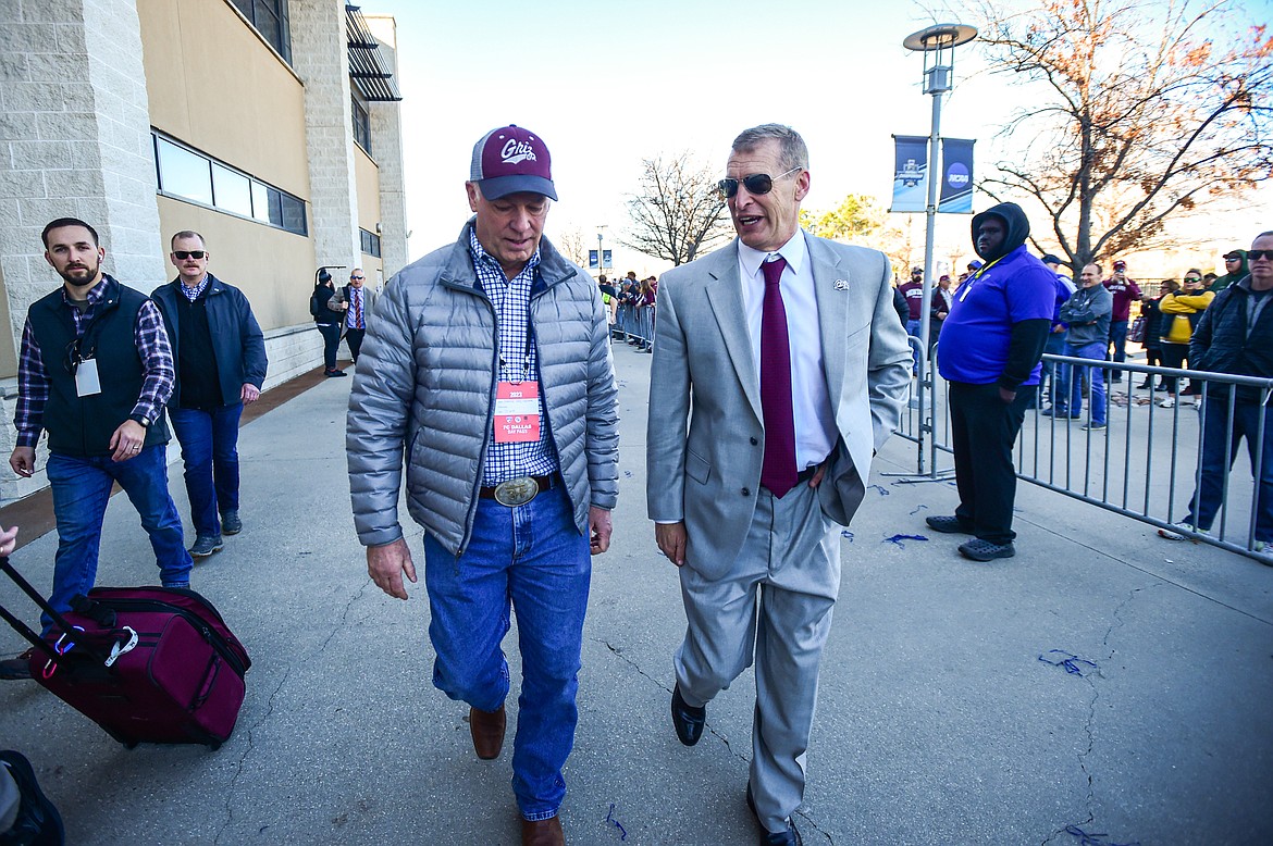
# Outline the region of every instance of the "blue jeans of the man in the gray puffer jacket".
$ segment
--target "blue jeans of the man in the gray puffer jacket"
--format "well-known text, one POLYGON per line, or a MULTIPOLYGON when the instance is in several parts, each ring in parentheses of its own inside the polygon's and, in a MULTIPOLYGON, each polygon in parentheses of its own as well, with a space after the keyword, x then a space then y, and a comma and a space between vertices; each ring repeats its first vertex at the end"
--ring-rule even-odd
POLYGON ((526 819, 556 814, 565 796, 561 767, 579 721, 579 653, 592 560, 574 524, 565 487, 526 505, 477 500, 468 548, 447 552, 426 532, 424 579, 433 684, 453 700, 495 711, 508 696, 500 642, 517 612, 522 693, 513 740, 513 793, 526 819))

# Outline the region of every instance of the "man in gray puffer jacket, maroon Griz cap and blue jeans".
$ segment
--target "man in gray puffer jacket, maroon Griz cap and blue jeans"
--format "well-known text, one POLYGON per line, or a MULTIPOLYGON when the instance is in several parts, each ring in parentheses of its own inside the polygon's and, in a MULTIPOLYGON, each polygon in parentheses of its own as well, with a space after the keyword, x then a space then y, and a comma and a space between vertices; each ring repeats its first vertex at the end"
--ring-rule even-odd
POLYGON ((406 599, 405 467, 424 527, 433 683, 470 705, 479 758, 503 745, 500 642, 516 609, 522 842, 561 843, 589 551, 610 546, 617 496, 606 316, 592 279, 542 238, 556 190, 538 136, 488 132, 465 187, 476 215, 460 240, 390 280, 368 323, 349 402, 354 523, 372 579, 406 599))

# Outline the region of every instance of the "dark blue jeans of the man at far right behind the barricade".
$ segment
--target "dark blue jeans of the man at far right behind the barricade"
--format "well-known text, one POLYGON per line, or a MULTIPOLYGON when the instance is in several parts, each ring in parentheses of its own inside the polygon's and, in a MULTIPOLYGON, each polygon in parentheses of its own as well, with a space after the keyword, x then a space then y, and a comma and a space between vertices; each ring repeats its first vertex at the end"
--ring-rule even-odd
MULTIPOLYGON (((1225 495, 1225 482, 1234 467, 1237 449, 1246 439, 1246 453, 1251 459, 1255 486, 1255 539, 1273 541, 1273 408, 1255 402, 1234 406, 1234 419, 1228 419, 1228 397, 1207 396, 1203 408, 1206 420, 1202 434, 1202 483, 1189 503, 1185 517, 1190 525, 1211 529, 1225 495), (1260 417, 1264 417, 1264 454, 1255 454, 1260 417), (1225 440, 1232 433, 1232 445, 1225 454, 1225 440)), ((1245 525, 1244 525, 1245 537, 1245 525)))

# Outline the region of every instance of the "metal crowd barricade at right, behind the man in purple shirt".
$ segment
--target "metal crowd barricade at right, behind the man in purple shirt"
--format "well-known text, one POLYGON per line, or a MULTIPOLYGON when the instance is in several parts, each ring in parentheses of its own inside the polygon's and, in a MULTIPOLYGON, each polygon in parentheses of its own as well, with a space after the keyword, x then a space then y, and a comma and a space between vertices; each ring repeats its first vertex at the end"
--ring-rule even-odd
MULTIPOLYGON (((1026 412, 1017 439, 1017 478, 1176 532, 1192 541, 1218 546, 1264 564, 1273 562, 1273 548, 1260 551, 1255 541, 1256 509, 1262 506, 1260 462, 1254 462, 1251 481, 1246 483, 1244 473, 1248 464, 1235 461, 1239 444, 1234 443, 1232 424, 1225 434, 1223 455, 1227 463, 1222 462, 1225 472, 1214 524, 1209 532, 1178 525, 1178 520, 1185 519, 1190 499, 1202 486, 1203 430, 1208 415, 1222 413, 1225 420, 1234 420, 1236 391, 1222 388, 1254 388, 1262 397, 1262 407, 1268 407, 1273 397, 1273 379, 1062 355, 1044 355, 1043 361, 1045 373, 1053 369, 1059 377, 1063 368, 1073 366, 1085 378, 1082 416, 1071 420, 1044 415, 1046 403, 1044 392, 1040 392, 1036 407, 1026 412), (1106 378, 1106 425, 1104 429, 1085 430, 1081 426, 1091 422, 1091 380, 1086 377, 1097 368, 1106 374, 1122 371, 1125 382, 1110 385, 1106 378), (1175 379, 1176 385, 1166 393, 1137 391, 1133 387, 1136 379, 1148 379, 1155 387, 1160 379, 1175 379), (1198 387, 1197 397, 1181 393, 1188 383, 1198 387), (1118 393, 1111 393, 1111 388, 1116 388, 1118 393), (1212 399, 1217 393, 1220 396, 1212 399), (1167 408, 1160 405, 1166 397, 1174 401, 1167 408)), ((948 391, 934 357, 927 371, 920 365, 920 374, 913 383, 913 398, 897 431, 900 438, 914 441, 919 449, 917 473, 908 481, 939 480, 952 472, 939 467, 941 455, 951 454, 947 399, 948 391)), ((1273 449, 1273 443, 1267 443, 1265 415, 1258 415, 1258 419, 1254 444, 1242 450, 1251 454, 1254 449, 1256 459, 1264 449, 1273 449)))

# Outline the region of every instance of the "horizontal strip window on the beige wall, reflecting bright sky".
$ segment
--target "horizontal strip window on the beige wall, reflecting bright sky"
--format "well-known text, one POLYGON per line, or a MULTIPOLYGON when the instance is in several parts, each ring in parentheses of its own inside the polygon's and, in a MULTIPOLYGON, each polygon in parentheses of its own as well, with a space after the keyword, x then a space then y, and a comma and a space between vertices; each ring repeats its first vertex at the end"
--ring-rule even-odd
POLYGON ((298 235, 309 234, 304 200, 164 135, 151 132, 150 136, 159 193, 298 235))

